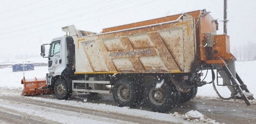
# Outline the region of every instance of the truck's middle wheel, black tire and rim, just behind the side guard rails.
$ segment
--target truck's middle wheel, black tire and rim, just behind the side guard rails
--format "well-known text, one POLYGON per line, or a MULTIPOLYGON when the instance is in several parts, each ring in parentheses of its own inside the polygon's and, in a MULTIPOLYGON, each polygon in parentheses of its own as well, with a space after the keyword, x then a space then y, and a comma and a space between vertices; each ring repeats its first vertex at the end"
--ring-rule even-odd
POLYGON ((127 79, 118 80, 113 87, 113 98, 118 106, 135 107, 140 104, 143 96, 140 90, 136 90, 136 84, 127 79))

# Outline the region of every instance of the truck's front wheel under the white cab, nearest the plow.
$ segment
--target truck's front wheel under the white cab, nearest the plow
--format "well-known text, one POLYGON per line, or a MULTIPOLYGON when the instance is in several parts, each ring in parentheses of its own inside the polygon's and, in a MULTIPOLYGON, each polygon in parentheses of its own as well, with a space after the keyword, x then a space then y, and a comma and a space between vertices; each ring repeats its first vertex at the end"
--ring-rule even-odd
POLYGON ((68 87, 64 79, 57 79, 54 85, 54 93, 58 99, 69 99, 72 95, 72 88, 68 87))

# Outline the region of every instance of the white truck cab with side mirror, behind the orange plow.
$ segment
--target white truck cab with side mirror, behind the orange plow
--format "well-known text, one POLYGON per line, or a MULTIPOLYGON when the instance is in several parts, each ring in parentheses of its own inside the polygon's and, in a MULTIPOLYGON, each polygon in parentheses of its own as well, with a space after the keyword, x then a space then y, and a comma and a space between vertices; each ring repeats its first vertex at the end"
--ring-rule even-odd
MULTIPOLYGON (((72 70, 74 60, 74 51, 72 50, 73 39, 70 36, 64 35, 62 37, 53 38, 50 45, 48 53, 48 72, 47 86, 54 87, 54 82, 58 78, 63 78, 67 80, 67 77, 63 75, 64 70, 72 70), (69 47, 67 47, 67 43, 69 47), (70 60, 68 60, 70 59, 70 60), (68 66, 68 67, 67 67, 68 66)), ((41 46, 41 56, 45 56, 45 46, 41 46)), ((74 69, 74 66, 73 66, 74 69)))

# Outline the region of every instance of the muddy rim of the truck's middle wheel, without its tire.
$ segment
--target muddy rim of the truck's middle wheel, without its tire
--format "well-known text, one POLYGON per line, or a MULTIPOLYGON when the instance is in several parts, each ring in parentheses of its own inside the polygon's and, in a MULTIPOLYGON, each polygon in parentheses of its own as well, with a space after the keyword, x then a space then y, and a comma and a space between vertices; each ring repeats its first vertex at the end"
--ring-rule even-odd
POLYGON ((128 101, 128 99, 130 98, 130 90, 127 86, 121 85, 117 89, 117 95, 121 101, 123 102, 128 101))

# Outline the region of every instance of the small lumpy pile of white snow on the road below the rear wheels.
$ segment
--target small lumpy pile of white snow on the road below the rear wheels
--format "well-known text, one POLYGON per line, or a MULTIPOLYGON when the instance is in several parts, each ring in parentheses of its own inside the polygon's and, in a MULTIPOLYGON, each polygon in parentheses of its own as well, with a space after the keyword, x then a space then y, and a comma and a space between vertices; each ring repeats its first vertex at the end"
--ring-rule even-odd
MULTIPOLYGON (((183 117, 184 120, 190 121, 190 122, 199 122, 199 123, 205 123, 205 124, 220 124, 218 122, 215 122, 215 120, 212 120, 210 118, 207 118, 207 116, 203 115, 202 113, 198 111, 189 111, 185 113, 185 115, 179 114, 177 112, 174 112, 173 114, 169 114, 174 117, 183 117)), ((225 123, 222 123, 225 124, 225 123)))

